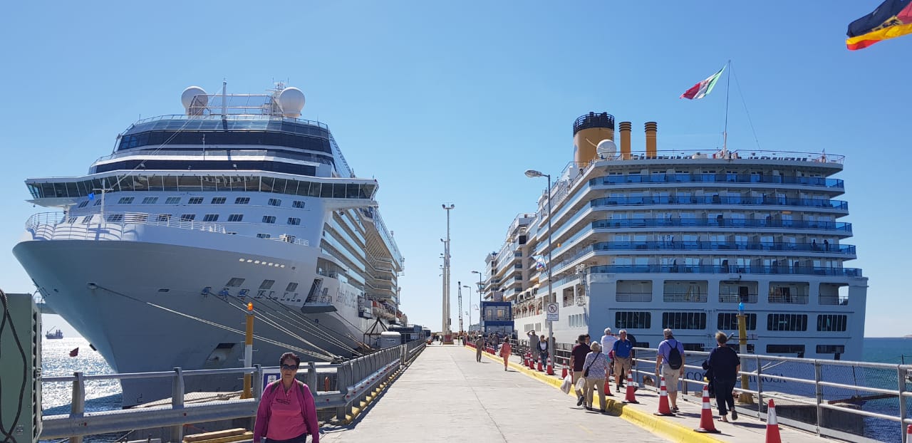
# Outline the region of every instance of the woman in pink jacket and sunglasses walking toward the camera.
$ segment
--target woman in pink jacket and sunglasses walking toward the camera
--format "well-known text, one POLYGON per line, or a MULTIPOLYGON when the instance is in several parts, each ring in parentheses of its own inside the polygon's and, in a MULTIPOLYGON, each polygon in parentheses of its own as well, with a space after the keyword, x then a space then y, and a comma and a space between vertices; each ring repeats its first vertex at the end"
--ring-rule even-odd
POLYGON ((307 434, 319 443, 314 396, 304 383, 295 380, 301 359, 286 352, 279 362, 282 378, 266 386, 256 410, 254 443, 306 443, 307 434))

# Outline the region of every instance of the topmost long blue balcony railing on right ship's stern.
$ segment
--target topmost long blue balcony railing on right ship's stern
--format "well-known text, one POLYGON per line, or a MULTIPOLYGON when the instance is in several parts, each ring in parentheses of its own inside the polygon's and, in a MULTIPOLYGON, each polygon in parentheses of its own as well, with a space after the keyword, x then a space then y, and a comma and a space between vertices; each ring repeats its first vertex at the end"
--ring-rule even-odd
POLYGON ((844 189, 843 180, 826 179, 822 177, 786 177, 782 175, 758 174, 628 174, 608 175, 589 180, 589 185, 616 185, 627 183, 770 183, 793 184, 805 186, 820 186, 824 188, 844 189))

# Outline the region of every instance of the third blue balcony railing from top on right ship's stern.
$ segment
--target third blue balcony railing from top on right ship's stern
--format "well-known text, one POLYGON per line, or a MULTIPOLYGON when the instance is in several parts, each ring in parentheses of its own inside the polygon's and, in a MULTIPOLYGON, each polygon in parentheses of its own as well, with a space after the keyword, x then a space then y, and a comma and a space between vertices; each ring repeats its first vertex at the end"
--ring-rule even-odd
POLYGON ((663 227, 725 227, 725 228, 768 228, 768 229, 801 229, 821 231, 841 231, 852 233, 852 223, 834 221, 788 221, 788 220, 750 220, 750 219, 622 219, 596 220, 592 222, 595 229, 605 228, 663 228, 663 227))

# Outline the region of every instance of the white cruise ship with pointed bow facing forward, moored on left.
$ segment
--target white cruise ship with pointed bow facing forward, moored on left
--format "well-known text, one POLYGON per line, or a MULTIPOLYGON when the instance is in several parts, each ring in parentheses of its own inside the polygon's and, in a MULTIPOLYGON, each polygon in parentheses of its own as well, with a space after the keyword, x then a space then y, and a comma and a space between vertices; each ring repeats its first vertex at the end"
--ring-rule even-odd
MULTIPOLYGON (((88 174, 26 180, 13 249, 47 305, 119 373, 240 367, 246 306, 254 364, 291 350, 333 361, 369 352, 399 311, 403 258, 375 196, 305 96, 208 94, 144 118, 88 174)), ((161 379, 164 380, 164 379, 161 379)), ((236 391, 238 376, 187 377, 236 391)), ((167 380, 122 380, 123 406, 170 397, 167 380)))

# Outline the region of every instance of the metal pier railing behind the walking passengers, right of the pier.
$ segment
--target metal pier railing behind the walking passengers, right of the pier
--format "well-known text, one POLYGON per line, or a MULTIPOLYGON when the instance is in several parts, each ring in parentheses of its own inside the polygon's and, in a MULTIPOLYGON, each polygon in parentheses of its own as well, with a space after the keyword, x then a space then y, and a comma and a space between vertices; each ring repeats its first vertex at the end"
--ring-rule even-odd
MULTIPOLYGON (((617 325, 627 327, 627 325, 617 325)), ((633 329, 633 328, 631 328, 633 329)), ((540 331, 536 331, 540 332, 540 331)), ((679 340, 689 341, 677 331, 679 340)), ((617 334, 617 329, 616 329, 617 334)), ((519 332, 518 335, 523 335, 519 332)), ((700 333, 702 335, 702 333, 700 333)), ((592 341, 598 341, 597 336, 592 341)), ((738 349, 735 338, 729 340, 730 347, 738 349)), ((702 341, 702 339, 697 340, 702 341)), ((714 341, 714 340, 713 340, 714 341)), ((511 339, 513 355, 520 359, 531 351, 529 342, 511 339)), ((658 395, 660 374, 656 371, 655 347, 640 347, 636 343, 632 360, 635 385, 653 391, 658 395)), ((555 343, 554 372, 561 374, 561 368, 568 367, 570 351, 575 344, 555 343)), ((684 353, 684 375, 679 379, 679 401, 700 405, 704 378, 703 363, 715 344, 686 344, 684 353), (698 347, 700 350, 691 350, 698 347)), ((767 418, 767 403, 774 399, 776 415, 780 425, 803 429, 826 438, 845 441, 884 441, 882 435, 876 440, 865 436, 870 428, 895 427, 892 441, 903 441, 907 426, 912 425, 912 365, 891 365, 839 360, 845 352, 845 345, 817 345, 817 354, 832 354, 832 360, 812 359, 782 355, 758 355, 748 345, 741 353, 741 372, 735 383, 735 398, 740 414, 767 418), (743 385, 741 384, 743 380, 743 385)), ((799 345, 800 349, 804 345, 799 345)), ((803 355, 793 352, 793 355, 803 355)), ((613 379, 614 376, 610 376, 613 379)))

